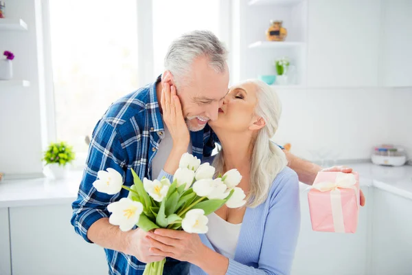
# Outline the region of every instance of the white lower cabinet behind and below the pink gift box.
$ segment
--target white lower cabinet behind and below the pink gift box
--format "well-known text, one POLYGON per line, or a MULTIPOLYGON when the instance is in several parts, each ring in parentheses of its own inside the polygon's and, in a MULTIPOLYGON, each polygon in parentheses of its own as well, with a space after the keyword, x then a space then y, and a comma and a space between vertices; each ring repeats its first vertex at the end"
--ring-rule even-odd
MULTIPOLYGON (((306 188, 307 186, 301 186, 306 188)), ((369 187, 361 187, 366 197, 369 187)), ((366 274, 370 205, 361 207, 354 234, 312 231, 307 194, 301 193, 301 230, 292 275, 366 274)))

